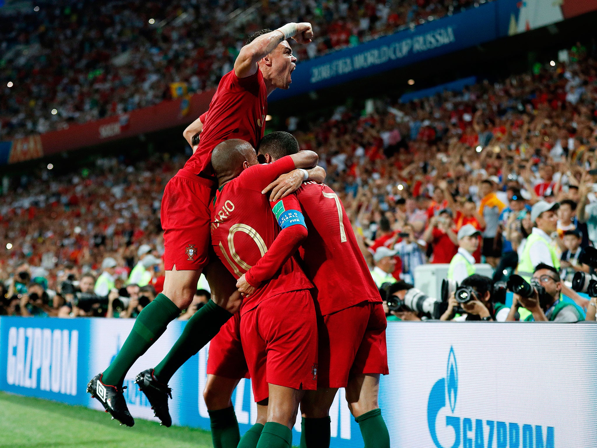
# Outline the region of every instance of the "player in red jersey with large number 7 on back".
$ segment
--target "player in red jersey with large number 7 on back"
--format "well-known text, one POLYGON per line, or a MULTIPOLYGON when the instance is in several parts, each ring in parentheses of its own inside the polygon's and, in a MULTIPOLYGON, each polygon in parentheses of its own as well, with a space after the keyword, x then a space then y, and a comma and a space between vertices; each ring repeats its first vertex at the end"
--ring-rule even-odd
MULTIPOLYGON (((297 153, 298 142, 285 132, 268 134, 259 148, 266 162, 297 153)), ((329 446, 329 410, 338 388, 344 387, 365 447, 389 448, 377 402, 380 374, 389 373, 381 296, 336 193, 327 185, 307 182, 294 195, 309 229, 299 252, 316 288, 319 337, 318 390, 307 391, 301 401, 301 446, 329 446), (327 445, 322 444, 326 440, 327 445)), ((274 214, 283 207, 274 205, 274 214)))

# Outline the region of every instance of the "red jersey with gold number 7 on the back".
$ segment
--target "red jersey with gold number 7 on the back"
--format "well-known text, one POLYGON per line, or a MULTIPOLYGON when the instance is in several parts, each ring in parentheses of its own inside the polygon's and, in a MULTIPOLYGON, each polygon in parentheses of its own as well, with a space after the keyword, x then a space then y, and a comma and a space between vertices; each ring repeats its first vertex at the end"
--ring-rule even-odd
POLYGON ((317 288, 322 315, 368 300, 381 302, 350 219, 327 185, 306 182, 297 191, 309 235, 299 249, 307 277, 317 288))

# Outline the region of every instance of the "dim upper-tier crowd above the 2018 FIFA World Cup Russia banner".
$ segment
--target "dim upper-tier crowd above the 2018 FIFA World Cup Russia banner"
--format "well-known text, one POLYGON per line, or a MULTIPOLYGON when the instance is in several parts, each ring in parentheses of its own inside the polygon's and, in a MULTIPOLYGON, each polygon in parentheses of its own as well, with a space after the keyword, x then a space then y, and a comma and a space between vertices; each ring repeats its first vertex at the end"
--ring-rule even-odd
POLYGON ((67 128, 216 87, 244 38, 311 22, 299 60, 485 0, 40 2, 0 15, 0 139, 67 128), (8 87, 7 87, 8 86, 8 87))

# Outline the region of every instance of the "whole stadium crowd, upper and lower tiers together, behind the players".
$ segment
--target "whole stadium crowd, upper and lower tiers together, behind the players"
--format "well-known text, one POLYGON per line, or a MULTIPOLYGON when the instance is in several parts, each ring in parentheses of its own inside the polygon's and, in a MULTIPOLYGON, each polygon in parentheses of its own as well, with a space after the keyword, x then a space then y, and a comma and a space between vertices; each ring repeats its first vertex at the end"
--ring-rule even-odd
MULTIPOLYGON (((216 87, 248 33, 289 17, 312 22, 318 36, 294 46, 304 60, 479 6, 470 0, 177 0, 165 9, 136 1, 49 4, 24 20, 0 16, 0 139, 155 105, 171 98, 178 82, 188 93, 216 87)), ((490 290, 534 257, 525 280, 538 264, 552 266, 537 278, 550 283, 551 275, 581 320, 593 300, 578 296, 572 281, 577 272, 590 278, 581 251, 597 244, 595 56, 594 45, 578 42, 560 51, 558 62, 535 63, 495 82, 410 102, 347 100, 277 125, 301 149, 318 152, 382 290, 398 284, 402 289, 392 294, 404 296, 417 267, 428 263, 451 263, 447 276, 457 283, 474 272, 470 265, 487 263, 494 272, 490 290), (527 242, 538 236, 543 254, 529 255, 527 242)), ((93 164, 60 174, 50 164, 3 185, 0 314, 136 317, 164 282, 161 197, 190 154, 175 146, 136 159, 96 155, 93 164)), ((209 297, 202 278, 181 318, 209 297)), ((442 303, 442 318, 466 314, 454 298, 442 303)), ((491 320, 525 320, 522 311, 510 313, 515 307, 516 299, 507 309, 485 308, 491 320)), ((388 308, 387 315, 434 317, 406 308, 388 308)), ((543 308, 543 317, 554 315, 543 308)), ((481 311, 468 314, 482 318, 481 311)))

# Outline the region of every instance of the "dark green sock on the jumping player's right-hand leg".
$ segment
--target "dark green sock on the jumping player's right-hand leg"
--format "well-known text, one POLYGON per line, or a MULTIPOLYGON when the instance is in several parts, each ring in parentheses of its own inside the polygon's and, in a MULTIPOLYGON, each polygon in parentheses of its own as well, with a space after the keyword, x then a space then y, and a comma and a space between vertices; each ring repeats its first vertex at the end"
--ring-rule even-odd
MULTIPOLYGON (((143 310, 145 311, 145 310, 143 310)), ((221 326, 232 317, 216 302, 210 300, 191 316, 184 326, 183 333, 174 343, 166 357, 153 370, 153 376, 168 384, 174 372, 180 369, 186 361, 197 354, 201 348, 218 334, 221 326)))

